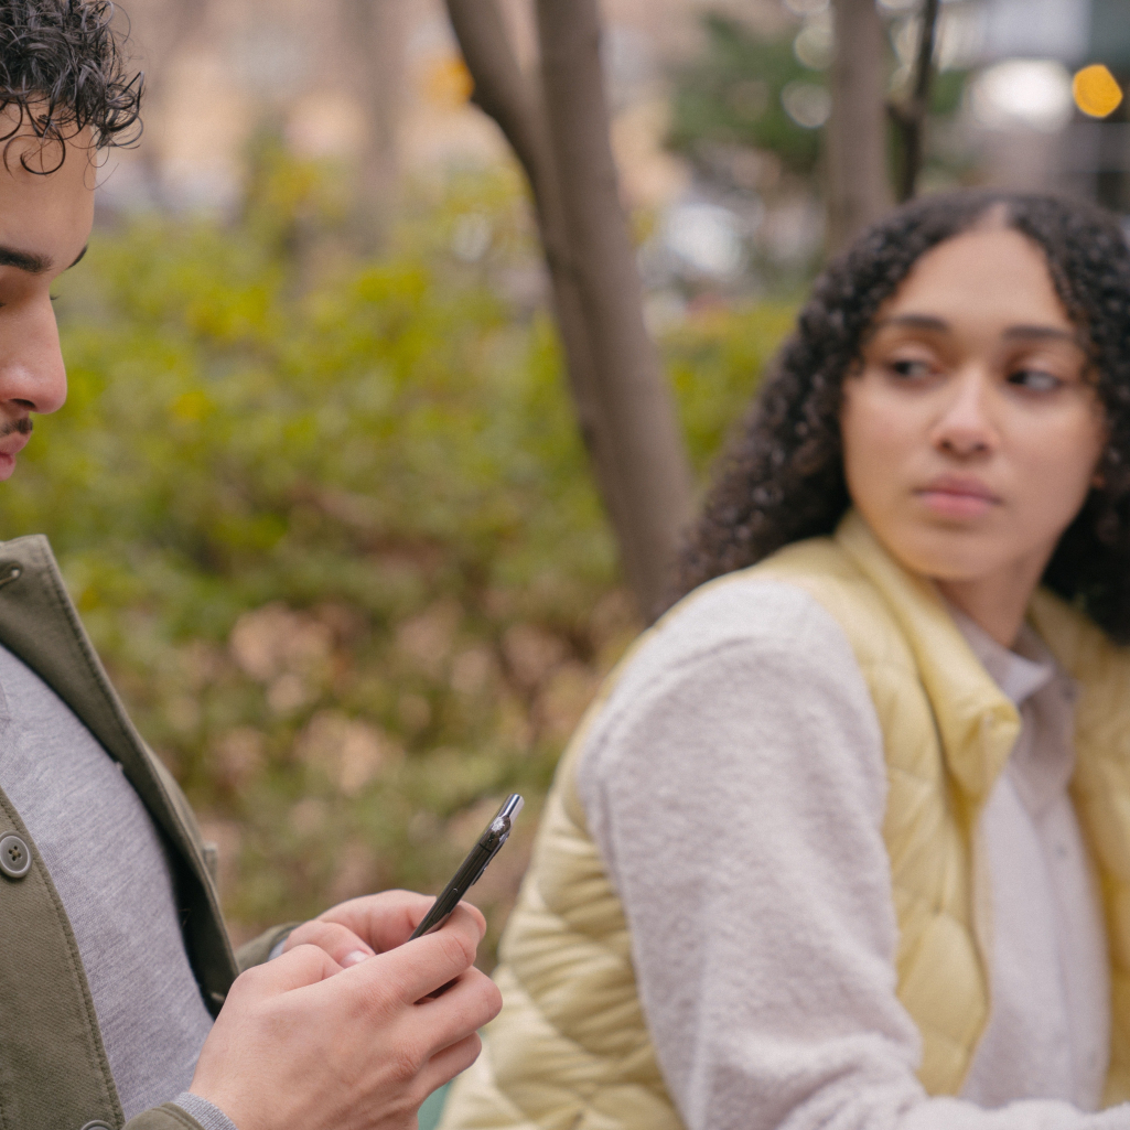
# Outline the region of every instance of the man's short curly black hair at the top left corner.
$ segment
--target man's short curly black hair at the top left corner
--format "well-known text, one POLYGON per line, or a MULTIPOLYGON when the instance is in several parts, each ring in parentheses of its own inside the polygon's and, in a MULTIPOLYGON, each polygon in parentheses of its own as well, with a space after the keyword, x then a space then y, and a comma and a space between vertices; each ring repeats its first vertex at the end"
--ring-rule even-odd
POLYGON ((0 110, 17 111, 0 133, 8 146, 25 125, 58 150, 87 127, 96 149, 129 145, 140 133, 144 76, 129 73, 108 0, 0 0, 0 110))

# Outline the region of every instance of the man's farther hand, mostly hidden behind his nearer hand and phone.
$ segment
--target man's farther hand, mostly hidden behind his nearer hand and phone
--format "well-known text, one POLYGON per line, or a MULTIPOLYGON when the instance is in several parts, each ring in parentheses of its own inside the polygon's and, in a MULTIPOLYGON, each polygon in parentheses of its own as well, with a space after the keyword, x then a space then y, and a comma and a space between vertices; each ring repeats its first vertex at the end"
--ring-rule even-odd
MULTIPOLYGON (((350 898, 292 930, 282 953, 296 946, 318 946, 338 965, 348 968, 374 953, 395 949, 411 936, 433 902, 434 898, 411 890, 383 890, 379 895, 350 898)), ((467 909, 485 930, 479 911, 470 905, 467 909)))

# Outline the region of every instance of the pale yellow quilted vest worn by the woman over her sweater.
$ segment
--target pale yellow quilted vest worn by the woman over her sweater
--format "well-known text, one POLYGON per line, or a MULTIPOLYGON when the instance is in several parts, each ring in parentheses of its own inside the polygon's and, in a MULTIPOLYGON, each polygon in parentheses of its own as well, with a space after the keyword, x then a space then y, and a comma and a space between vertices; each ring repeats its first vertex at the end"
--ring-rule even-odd
MULTIPOLYGON (((843 627, 884 733, 883 834, 898 921, 898 999, 922 1034, 919 1078, 955 1095, 989 1015, 989 889, 975 828, 1019 730, 935 589, 855 513, 736 576, 808 591, 843 627)), ((701 590, 699 590, 701 591, 701 590)), ((692 594, 652 632, 662 632, 692 594)), ((1080 684, 1071 796, 1106 911, 1112 1031, 1106 1105, 1130 1099, 1130 649, 1051 593, 1029 620, 1080 684)), ((584 826, 574 766, 615 675, 547 799, 506 927, 499 1017, 455 1084, 441 1130, 680 1130, 636 994, 627 924, 584 826)))

